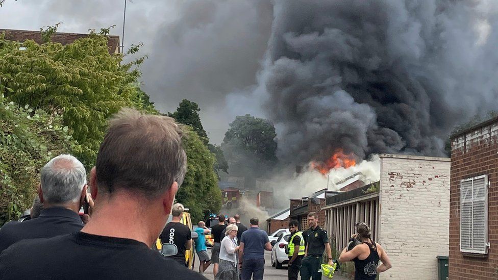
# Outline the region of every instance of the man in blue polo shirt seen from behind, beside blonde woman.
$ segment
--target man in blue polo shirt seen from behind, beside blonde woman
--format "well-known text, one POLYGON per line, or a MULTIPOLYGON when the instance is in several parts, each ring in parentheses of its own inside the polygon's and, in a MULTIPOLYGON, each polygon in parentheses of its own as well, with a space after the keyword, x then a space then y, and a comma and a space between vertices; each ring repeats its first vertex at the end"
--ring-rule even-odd
POLYGON ((258 227, 258 218, 251 219, 251 227, 240 237, 239 265, 242 265, 242 280, 263 279, 264 250, 271 251, 268 235, 258 227), (240 262, 240 260, 243 260, 240 262))

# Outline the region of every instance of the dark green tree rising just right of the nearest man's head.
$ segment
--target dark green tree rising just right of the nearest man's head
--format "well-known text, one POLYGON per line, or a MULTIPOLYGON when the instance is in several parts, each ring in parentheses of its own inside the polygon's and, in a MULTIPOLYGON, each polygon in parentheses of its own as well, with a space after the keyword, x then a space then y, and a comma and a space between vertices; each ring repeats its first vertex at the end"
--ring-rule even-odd
POLYGON ((178 122, 190 125, 192 129, 197 133, 201 140, 207 144, 209 142, 208 135, 204 130, 201 117, 199 117, 199 112, 201 109, 197 103, 192 102, 187 99, 183 99, 177 108, 177 111, 173 113, 168 113, 168 116, 176 119, 178 122))

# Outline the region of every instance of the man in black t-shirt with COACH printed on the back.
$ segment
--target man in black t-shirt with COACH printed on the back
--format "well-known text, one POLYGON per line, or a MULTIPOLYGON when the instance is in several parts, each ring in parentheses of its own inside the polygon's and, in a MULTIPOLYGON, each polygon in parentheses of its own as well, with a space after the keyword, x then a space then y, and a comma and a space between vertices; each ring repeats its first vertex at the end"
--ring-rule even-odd
POLYGON ((161 243, 177 245, 178 253, 168 258, 172 258, 188 267, 185 260, 185 251, 190 250, 192 247, 192 233, 190 232, 190 228, 181 222, 184 211, 185 208, 181 203, 173 205, 171 209, 172 220, 166 224, 159 239, 161 239, 161 243))

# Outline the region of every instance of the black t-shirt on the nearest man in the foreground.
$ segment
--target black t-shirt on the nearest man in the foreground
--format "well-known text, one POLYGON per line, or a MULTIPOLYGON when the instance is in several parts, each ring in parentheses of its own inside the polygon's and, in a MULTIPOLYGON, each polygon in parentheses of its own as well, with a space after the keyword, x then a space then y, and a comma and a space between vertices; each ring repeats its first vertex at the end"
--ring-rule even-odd
POLYGON ((206 279, 142 242, 82 232, 22 240, 0 255, 0 279, 206 279))

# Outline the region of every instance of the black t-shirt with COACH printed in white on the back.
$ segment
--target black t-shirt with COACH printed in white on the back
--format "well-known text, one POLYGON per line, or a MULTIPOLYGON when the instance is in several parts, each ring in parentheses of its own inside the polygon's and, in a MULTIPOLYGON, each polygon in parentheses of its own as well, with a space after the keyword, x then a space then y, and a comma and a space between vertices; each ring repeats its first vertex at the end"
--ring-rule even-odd
POLYGON ((177 245, 178 253, 171 258, 181 264, 185 264, 185 250, 187 250, 185 243, 187 243, 187 240, 192 239, 192 233, 188 226, 180 222, 169 222, 164 227, 159 239, 161 239, 161 243, 177 245))

